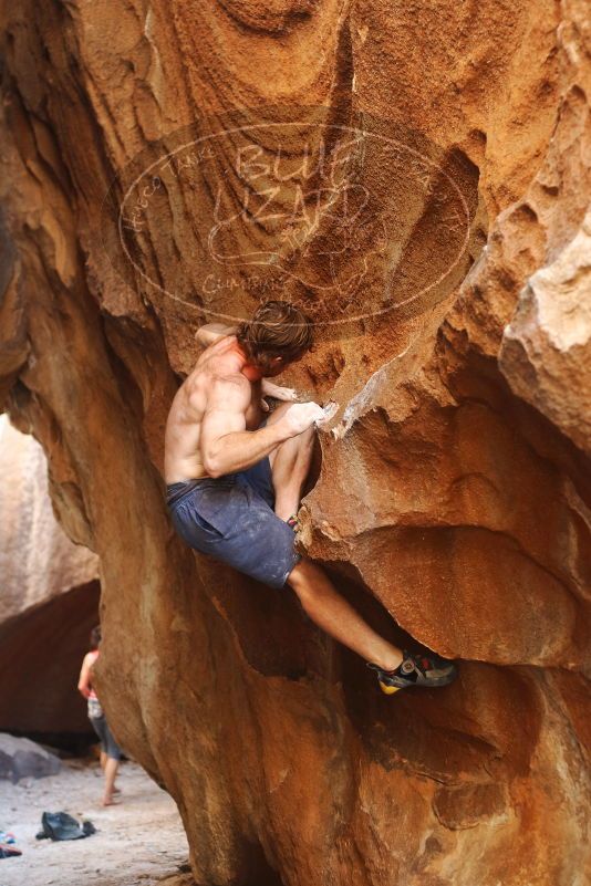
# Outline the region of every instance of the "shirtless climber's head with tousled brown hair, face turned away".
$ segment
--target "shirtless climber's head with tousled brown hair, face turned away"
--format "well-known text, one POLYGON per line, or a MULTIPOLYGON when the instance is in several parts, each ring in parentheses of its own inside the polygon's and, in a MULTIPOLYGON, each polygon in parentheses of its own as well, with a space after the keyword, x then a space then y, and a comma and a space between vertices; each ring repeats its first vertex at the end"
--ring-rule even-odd
POLYGON ((312 327, 303 311, 289 302, 263 302, 236 337, 249 363, 263 376, 279 375, 312 346, 312 327))

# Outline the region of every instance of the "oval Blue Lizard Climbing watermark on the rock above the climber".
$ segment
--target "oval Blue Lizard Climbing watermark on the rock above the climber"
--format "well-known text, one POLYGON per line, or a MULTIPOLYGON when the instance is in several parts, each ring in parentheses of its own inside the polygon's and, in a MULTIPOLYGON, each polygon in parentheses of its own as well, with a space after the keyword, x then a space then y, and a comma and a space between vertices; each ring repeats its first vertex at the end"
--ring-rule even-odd
POLYGON ((342 335, 446 298, 474 258, 477 207, 458 152, 367 114, 273 106, 149 145, 113 183, 102 238, 158 311, 236 322, 282 299, 342 335))

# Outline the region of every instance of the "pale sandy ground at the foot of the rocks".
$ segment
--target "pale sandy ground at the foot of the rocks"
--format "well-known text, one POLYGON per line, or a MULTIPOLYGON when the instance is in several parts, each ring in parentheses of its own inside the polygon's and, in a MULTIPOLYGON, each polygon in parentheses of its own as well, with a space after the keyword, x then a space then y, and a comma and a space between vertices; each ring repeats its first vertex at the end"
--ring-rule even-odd
POLYGON ((11 831, 22 851, 0 859, 0 886, 153 886, 178 874, 188 847, 173 800, 136 763, 122 763, 120 772, 121 804, 106 809, 97 763, 62 761, 58 775, 0 780, 0 831, 11 831), (90 819, 96 834, 37 841, 44 811, 90 819))

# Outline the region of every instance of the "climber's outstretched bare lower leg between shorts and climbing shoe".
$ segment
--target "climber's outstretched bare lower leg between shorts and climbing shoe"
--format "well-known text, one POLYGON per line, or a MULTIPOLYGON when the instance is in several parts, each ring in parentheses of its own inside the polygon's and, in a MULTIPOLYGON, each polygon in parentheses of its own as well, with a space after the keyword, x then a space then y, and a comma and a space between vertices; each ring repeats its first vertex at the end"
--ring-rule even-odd
POLYGON ((292 569, 288 584, 312 622, 331 637, 384 670, 394 670, 402 663, 401 650, 363 621, 311 560, 304 557, 292 569))

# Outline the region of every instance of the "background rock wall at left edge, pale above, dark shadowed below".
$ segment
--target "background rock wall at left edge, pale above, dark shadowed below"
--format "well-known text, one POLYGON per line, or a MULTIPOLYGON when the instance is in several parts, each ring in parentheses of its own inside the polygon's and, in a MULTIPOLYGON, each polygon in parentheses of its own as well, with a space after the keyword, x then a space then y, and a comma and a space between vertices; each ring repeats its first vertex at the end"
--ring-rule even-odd
POLYGON ((43 449, 6 416, 0 475, 0 730, 89 732, 76 684, 98 617, 97 557, 61 529, 43 449))

